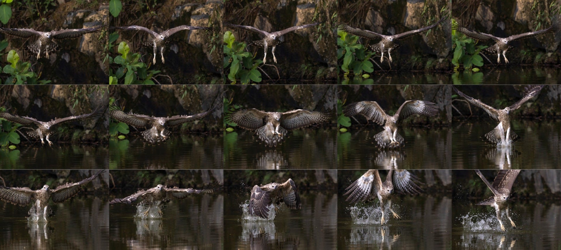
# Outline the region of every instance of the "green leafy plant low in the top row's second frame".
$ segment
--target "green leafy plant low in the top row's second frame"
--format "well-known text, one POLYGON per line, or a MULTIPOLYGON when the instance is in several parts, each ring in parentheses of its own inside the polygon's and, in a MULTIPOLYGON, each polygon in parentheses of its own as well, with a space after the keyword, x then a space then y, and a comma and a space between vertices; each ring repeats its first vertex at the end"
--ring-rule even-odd
POLYGON ((117 84, 123 76, 123 81, 121 81, 123 84, 154 84, 151 79, 154 74, 160 73, 159 70, 148 70, 148 65, 139 62, 140 54, 129 54, 130 48, 124 41, 119 44, 117 51, 121 55, 114 59, 109 56, 109 62, 121 66, 117 69, 117 72, 110 73, 109 84, 117 84))

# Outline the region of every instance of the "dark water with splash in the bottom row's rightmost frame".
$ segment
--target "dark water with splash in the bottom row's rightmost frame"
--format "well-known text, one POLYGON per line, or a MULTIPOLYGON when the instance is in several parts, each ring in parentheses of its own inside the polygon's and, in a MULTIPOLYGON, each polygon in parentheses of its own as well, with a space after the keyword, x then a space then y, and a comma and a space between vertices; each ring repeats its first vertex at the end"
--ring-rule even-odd
POLYGON ((503 214, 504 233, 500 230, 493 207, 474 205, 479 201, 454 201, 453 249, 561 248, 559 201, 511 201, 511 216, 516 229, 511 227, 503 214))

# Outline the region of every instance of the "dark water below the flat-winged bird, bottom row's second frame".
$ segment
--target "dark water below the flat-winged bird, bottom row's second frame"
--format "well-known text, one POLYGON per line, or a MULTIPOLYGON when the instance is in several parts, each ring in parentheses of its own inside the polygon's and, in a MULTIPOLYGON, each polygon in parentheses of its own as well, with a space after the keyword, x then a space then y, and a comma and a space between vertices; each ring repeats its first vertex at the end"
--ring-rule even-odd
MULTIPOLYGON (((134 192, 112 194, 125 197, 134 192)), ((111 249, 222 249, 223 203, 222 194, 173 200, 161 219, 134 218, 135 206, 111 205, 111 249)))

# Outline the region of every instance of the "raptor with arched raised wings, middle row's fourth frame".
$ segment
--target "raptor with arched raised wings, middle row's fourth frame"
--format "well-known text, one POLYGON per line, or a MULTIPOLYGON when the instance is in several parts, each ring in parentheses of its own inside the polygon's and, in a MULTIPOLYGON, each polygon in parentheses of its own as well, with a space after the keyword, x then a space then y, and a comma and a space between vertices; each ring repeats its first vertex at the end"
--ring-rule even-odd
POLYGON ((378 102, 361 101, 348 105, 343 110, 343 114, 348 117, 362 115, 366 117, 366 120, 373 120, 378 125, 383 125, 384 131, 374 135, 374 139, 378 147, 394 149, 404 145, 403 137, 397 133, 398 120, 406 119, 414 114, 435 116, 437 111, 438 107, 434 106, 434 102, 409 100, 403 102, 395 115, 389 116, 378 105, 378 102))

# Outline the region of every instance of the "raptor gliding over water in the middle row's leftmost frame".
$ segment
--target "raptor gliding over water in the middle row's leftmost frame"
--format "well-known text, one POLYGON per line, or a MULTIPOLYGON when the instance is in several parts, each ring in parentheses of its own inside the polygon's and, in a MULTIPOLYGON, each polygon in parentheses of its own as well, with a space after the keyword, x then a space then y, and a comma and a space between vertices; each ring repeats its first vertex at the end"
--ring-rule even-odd
POLYGON ((51 129, 52 126, 61 124, 63 122, 99 117, 103 114, 104 110, 105 107, 100 107, 94 110, 93 112, 91 112, 90 114, 68 116, 65 118, 55 118, 54 120, 51 119, 50 121, 39 121, 33 117, 12 115, 0 107, 0 118, 6 119, 11 122, 19 123, 21 125, 30 125, 30 124, 37 125, 38 128, 36 130, 27 132, 27 135, 31 136, 32 138, 41 139, 41 144, 45 144, 45 141, 43 140, 43 136, 44 136, 45 140, 47 140, 47 142, 49 143, 49 146, 52 146, 53 143, 49 140, 49 135, 56 133, 56 131, 51 129))

